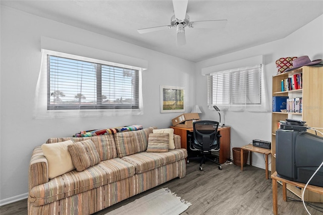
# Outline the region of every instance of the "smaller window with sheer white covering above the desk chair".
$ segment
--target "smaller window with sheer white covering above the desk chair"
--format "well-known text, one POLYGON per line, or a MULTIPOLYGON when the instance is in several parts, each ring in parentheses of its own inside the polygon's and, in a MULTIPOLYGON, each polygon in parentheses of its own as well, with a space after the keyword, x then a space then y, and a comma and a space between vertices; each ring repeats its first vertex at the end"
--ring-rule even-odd
POLYGON ((208 106, 229 111, 263 111, 263 83, 262 65, 211 73, 207 76, 208 106))

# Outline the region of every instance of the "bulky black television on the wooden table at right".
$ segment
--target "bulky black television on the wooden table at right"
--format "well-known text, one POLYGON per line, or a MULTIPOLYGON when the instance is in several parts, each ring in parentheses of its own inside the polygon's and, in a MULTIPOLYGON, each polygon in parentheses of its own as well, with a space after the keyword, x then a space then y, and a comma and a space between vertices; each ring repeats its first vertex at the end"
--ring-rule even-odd
MULTIPOLYGON (((276 131, 276 171, 281 178, 306 184, 323 162, 323 137, 306 131, 276 131)), ((323 167, 311 185, 323 187, 323 167)))

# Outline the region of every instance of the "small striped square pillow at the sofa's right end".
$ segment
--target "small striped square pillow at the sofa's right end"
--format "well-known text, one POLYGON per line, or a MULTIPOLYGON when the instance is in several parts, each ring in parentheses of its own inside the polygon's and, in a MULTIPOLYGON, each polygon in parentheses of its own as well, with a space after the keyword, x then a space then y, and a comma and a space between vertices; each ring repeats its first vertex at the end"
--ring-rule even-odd
POLYGON ((169 134, 152 134, 148 135, 147 152, 168 152, 169 134))

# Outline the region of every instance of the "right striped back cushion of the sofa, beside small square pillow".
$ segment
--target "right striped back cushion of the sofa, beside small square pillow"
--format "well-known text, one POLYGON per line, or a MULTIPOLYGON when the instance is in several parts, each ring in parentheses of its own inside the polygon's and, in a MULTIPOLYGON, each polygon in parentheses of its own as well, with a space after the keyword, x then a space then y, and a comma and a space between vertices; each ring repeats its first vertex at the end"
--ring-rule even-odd
POLYGON ((138 131, 129 131, 115 134, 118 157, 127 156, 147 150, 148 134, 153 127, 138 131))

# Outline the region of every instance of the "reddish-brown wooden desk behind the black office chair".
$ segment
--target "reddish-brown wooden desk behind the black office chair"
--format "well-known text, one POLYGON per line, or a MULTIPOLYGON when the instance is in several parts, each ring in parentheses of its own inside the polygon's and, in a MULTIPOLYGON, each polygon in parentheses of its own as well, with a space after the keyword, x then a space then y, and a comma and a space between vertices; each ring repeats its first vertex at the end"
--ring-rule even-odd
MULTIPOLYGON (((187 149, 187 133, 193 132, 193 128, 181 128, 171 126, 174 129, 174 134, 181 136, 181 148, 187 149)), ((220 154, 219 163, 224 164, 227 160, 230 160, 230 127, 218 128, 220 138, 220 154)))

